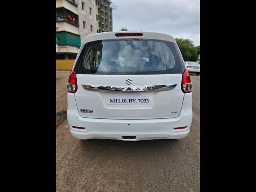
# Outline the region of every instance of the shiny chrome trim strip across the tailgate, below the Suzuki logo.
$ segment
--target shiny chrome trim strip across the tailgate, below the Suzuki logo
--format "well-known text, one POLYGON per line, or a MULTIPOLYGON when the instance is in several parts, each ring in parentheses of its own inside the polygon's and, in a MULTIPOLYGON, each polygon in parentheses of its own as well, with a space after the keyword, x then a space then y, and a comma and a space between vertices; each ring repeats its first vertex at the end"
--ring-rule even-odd
POLYGON ((155 92, 169 91, 177 84, 169 85, 150 85, 150 86, 107 86, 107 85, 82 85, 85 90, 97 92, 155 92))

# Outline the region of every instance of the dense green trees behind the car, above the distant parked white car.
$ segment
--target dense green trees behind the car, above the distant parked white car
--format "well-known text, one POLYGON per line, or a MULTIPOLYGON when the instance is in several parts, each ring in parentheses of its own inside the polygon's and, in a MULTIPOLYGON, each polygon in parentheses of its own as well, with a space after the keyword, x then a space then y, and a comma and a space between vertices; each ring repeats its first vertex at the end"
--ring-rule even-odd
POLYGON ((200 46, 194 46, 190 39, 175 39, 182 54, 184 61, 196 61, 200 54, 200 46))

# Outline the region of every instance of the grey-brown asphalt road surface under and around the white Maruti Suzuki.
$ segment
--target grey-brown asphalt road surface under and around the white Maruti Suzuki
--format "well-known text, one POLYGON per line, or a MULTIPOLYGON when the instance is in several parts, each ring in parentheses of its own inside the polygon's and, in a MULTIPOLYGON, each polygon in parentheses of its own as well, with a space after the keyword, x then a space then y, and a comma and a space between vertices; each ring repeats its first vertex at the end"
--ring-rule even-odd
POLYGON ((56 129, 56 191, 199 192, 200 76, 190 77, 193 121, 184 139, 78 140, 65 120, 56 129))

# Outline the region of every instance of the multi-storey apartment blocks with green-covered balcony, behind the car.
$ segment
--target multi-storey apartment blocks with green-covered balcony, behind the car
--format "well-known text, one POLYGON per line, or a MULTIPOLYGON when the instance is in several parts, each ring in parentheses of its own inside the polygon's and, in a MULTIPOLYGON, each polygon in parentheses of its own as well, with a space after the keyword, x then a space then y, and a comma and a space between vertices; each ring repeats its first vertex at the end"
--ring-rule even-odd
POLYGON ((112 31, 110 0, 56 0, 56 59, 75 59, 84 38, 112 31))

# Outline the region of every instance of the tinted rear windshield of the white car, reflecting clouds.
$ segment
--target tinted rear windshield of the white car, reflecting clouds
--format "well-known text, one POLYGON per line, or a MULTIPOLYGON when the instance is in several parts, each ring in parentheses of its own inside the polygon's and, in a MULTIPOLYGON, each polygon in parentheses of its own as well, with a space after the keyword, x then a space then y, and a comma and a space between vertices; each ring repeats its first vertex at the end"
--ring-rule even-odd
POLYGON ((185 70, 174 42, 112 39, 88 42, 75 64, 76 74, 180 74, 185 70))

